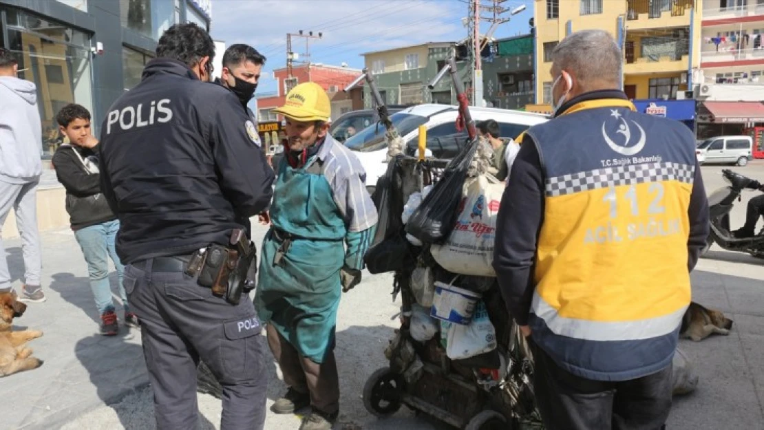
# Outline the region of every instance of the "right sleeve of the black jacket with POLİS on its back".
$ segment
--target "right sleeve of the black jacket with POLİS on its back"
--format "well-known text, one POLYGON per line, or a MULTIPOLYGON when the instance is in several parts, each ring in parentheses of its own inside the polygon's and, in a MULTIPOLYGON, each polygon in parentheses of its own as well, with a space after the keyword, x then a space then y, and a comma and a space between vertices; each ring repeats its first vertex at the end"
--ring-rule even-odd
POLYGON ((212 121, 212 156, 226 199, 238 216, 264 212, 273 196, 274 171, 248 134, 250 119, 230 95, 215 106, 212 121))

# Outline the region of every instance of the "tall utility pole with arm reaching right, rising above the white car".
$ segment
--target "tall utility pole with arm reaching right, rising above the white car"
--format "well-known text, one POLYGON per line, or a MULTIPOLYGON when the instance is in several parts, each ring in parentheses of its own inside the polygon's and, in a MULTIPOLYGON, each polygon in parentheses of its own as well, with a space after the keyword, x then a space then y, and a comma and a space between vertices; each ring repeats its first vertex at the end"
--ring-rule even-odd
MULTIPOLYGON (((481 0, 471 0, 470 2, 470 16, 468 18, 468 34, 472 40, 472 55, 471 55, 471 76, 472 76, 472 105, 483 105, 483 62, 481 60, 481 52, 488 44, 488 40, 494 34, 497 27, 507 21, 510 18, 502 18, 501 14, 509 11, 507 8, 503 8, 501 4, 507 2, 507 0, 488 0, 490 5, 481 5, 481 0), (482 16, 484 12, 490 12, 491 16, 482 16), (485 40, 481 41, 480 24, 481 21, 490 22, 490 29, 485 34, 485 40)), ((511 15, 520 13, 525 10, 524 7, 517 8, 511 12, 511 15)))

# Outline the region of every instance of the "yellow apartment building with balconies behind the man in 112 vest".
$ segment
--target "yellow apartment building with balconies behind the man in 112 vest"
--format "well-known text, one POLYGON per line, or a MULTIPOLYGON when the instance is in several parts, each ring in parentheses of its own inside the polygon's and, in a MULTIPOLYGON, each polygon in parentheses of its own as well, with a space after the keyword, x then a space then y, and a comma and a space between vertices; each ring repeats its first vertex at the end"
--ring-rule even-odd
POLYGON ((552 50, 573 31, 603 29, 624 53, 623 90, 630 99, 685 99, 700 65, 693 0, 536 0, 536 103, 552 102, 552 50))

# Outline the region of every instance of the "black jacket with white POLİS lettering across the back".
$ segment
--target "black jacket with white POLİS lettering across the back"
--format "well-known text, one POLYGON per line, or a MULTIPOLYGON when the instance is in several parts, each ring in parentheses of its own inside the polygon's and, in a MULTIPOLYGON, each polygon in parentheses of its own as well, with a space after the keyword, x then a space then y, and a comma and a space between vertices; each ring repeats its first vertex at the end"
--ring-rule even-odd
POLYGON ((267 210, 274 172, 233 93, 180 61, 147 63, 101 128, 102 192, 122 263, 227 244, 237 219, 267 210))

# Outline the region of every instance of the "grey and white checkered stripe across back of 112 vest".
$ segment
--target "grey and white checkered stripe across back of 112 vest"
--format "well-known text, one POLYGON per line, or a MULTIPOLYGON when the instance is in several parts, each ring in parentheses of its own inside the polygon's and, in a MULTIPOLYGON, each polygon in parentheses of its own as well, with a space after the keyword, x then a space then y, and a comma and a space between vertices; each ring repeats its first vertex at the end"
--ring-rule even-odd
POLYGON ((629 186, 639 183, 678 181, 692 183, 695 167, 681 163, 630 164, 607 167, 546 179, 546 196, 565 196, 575 192, 610 186, 629 186))

